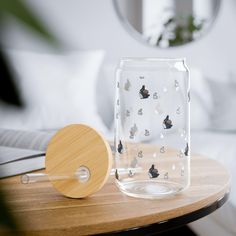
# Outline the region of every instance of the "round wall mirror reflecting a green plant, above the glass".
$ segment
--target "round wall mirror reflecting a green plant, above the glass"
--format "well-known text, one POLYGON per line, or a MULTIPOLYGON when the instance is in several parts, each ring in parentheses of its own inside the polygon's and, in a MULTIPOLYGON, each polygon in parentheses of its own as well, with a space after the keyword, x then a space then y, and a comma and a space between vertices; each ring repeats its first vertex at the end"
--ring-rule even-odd
POLYGON ((151 46, 169 48, 204 36, 220 0, 113 0, 125 28, 151 46))

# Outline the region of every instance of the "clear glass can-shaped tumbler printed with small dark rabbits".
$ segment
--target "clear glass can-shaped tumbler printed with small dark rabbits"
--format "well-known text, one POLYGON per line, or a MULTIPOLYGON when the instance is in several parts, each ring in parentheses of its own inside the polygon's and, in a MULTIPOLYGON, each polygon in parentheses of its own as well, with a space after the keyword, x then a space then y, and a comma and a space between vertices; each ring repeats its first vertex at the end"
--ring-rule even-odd
POLYGON ((129 196, 162 198, 190 184, 185 59, 124 58, 116 71, 115 178, 129 196))

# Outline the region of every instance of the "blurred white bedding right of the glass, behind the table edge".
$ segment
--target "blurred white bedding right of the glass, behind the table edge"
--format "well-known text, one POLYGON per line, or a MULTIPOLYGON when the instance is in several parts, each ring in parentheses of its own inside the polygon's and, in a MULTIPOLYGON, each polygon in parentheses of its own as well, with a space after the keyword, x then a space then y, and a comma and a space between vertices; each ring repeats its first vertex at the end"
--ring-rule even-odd
POLYGON ((236 133, 192 132, 191 151, 218 160, 232 177, 229 201, 191 227, 201 236, 236 235, 236 133))

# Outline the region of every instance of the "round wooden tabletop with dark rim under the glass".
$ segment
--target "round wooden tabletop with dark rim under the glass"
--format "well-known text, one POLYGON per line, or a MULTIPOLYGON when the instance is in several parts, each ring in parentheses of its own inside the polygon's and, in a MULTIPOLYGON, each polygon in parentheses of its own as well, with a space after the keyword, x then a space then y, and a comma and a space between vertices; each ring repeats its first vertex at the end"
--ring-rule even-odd
POLYGON ((50 183, 22 185, 19 176, 0 183, 5 184, 8 201, 26 234, 119 235, 123 231, 124 235, 145 235, 182 226, 225 203, 230 177, 221 164, 193 156, 191 171, 190 188, 162 200, 128 197, 118 190, 113 179, 98 193, 81 200, 63 197, 50 183))

